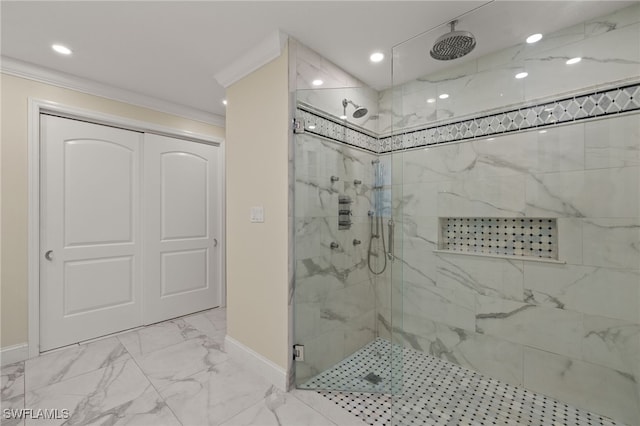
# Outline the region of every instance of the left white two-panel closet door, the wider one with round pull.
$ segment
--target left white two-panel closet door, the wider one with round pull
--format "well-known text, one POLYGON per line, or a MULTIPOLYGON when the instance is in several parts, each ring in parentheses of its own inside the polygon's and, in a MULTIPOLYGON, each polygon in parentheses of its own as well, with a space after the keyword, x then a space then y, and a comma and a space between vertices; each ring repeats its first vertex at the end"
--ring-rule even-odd
POLYGON ((41 117, 40 350, 142 324, 143 135, 41 117))

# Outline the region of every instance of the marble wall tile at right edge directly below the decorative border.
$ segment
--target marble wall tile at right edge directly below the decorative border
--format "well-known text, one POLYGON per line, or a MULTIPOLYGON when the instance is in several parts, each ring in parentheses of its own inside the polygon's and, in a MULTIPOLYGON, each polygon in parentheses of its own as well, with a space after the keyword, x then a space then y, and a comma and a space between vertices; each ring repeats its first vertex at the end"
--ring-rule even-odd
POLYGON ((640 115, 585 123, 587 169, 640 165, 640 115))

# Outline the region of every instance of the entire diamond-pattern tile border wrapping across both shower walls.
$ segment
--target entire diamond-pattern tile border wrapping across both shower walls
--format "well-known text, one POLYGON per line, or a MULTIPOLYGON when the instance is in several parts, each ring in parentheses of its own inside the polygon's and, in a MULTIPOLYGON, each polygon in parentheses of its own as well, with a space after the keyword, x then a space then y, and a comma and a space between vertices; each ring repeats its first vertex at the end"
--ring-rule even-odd
POLYGON ((377 138, 298 106, 305 132, 382 154, 640 110, 640 83, 377 138), (309 126, 315 126, 310 129, 309 126))

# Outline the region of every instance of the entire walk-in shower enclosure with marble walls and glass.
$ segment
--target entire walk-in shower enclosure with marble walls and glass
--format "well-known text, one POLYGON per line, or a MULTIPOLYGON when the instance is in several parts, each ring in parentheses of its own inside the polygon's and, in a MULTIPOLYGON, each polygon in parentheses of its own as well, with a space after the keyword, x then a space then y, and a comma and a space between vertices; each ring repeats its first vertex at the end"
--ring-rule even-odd
POLYGON ((395 46, 387 89, 297 91, 299 388, 432 424, 482 380, 640 424, 640 4, 481 48, 517 3, 459 17, 465 57, 430 58, 447 24, 395 46))

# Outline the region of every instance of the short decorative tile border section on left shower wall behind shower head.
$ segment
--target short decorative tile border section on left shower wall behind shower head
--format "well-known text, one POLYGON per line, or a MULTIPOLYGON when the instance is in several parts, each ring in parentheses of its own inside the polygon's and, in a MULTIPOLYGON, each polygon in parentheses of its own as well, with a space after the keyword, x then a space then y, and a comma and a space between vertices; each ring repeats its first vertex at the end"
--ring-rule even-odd
POLYGON ((344 123, 331 120, 319 114, 302 109, 300 106, 296 112, 296 118, 303 120, 304 132, 322 136, 336 142, 355 146, 374 154, 378 153, 380 142, 378 138, 368 135, 344 123))

